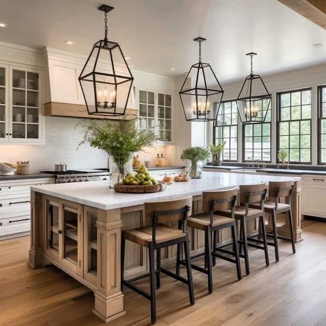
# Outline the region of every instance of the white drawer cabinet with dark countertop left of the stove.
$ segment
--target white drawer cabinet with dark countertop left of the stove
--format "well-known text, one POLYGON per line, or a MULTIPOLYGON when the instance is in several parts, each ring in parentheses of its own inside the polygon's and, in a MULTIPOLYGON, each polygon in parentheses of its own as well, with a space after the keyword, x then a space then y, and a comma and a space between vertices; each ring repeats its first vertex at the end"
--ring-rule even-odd
POLYGON ((29 234, 31 186, 54 183, 52 178, 0 181, 0 240, 29 234))

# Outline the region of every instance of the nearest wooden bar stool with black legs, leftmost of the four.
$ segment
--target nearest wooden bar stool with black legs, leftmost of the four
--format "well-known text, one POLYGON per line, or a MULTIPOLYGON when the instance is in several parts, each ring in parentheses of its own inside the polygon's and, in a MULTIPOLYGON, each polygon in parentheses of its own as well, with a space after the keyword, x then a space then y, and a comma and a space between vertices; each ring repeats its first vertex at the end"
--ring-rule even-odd
POLYGON ((155 274, 156 287, 160 287, 160 272, 173 277, 188 285, 189 299, 191 305, 195 304, 194 286, 192 269, 189 254, 189 242, 186 232, 186 223, 188 212, 192 207, 192 197, 165 201, 165 202, 149 202, 145 203, 145 220, 149 226, 122 231, 121 236, 121 289, 123 285, 129 287, 135 292, 145 296, 151 302, 151 321, 156 322, 156 296, 155 296, 155 274), (169 209, 167 209, 169 208, 169 209), (178 229, 166 225, 172 221, 179 221, 178 229), (124 279, 124 252, 125 240, 129 240, 141 246, 148 248, 149 253, 149 274, 135 277, 129 280, 124 279), (160 266, 160 250, 161 248, 183 244, 185 252, 185 261, 187 269, 187 279, 180 275, 160 266), (156 250, 156 270, 154 266, 154 252, 156 250), (150 293, 145 292, 140 287, 132 284, 133 281, 139 280, 146 276, 150 277, 150 293))

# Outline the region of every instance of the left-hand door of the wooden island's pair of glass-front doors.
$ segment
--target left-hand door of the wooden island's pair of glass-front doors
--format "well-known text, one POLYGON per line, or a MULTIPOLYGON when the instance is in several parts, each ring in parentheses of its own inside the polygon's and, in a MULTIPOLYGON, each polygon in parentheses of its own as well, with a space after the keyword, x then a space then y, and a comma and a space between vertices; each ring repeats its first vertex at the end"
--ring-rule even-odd
POLYGON ((59 262, 60 252, 60 217, 59 201, 46 198, 46 243, 45 253, 59 262))

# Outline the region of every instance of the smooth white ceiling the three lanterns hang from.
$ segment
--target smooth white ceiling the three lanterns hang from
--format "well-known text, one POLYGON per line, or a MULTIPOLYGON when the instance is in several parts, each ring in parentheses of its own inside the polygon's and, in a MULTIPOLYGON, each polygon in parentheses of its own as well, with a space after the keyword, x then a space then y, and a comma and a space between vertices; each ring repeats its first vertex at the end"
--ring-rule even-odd
MULTIPOLYGON (((0 41, 49 46, 87 55, 103 37, 100 0, 0 0, 0 41), (73 45, 64 43, 66 39, 73 45)), ((198 60, 211 63, 220 82, 249 73, 256 51, 261 74, 326 62, 326 31, 277 0, 107 0, 109 39, 119 42, 138 70, 178 75, 198 60), (324 44, 313 47, 315 43, 324 44), (169 68, 174 67, 171 71, 169 68)))

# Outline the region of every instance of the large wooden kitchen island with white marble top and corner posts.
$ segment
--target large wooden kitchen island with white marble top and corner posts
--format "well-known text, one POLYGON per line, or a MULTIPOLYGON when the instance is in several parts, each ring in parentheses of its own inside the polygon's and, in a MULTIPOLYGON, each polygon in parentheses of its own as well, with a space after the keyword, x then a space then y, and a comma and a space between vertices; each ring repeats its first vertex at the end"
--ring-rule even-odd
MULTIPOLYGON (((301 178, 294 180, 292 196, 293 227, 296 241, 301 237, 301 178)), ((201 212, 202 192, 239 184, 284 181, 288 177, 204 172, 202 179, 173 183, 165 192, 121 194, 109 188, 108 181, 44 185, 31 188, 31 249, 33 268, 53 264, 83 283, 95 294, 93 312, 108 322, 125 314, 120 288, 121 230, 144 226, 144 202, 193 197, 193 213, 201 212)), ((256 221, 249 232, 258 231, 256 221)), ((191 251, 204 250, 200 230, 189 229, 191 251)), ((289 236, 288 226, 278 229, 289 236)), ((228 231, 219 243, 230 239, 228 231)), ((175 262, 176 248, 162 251, 162 265, 175 262)), ((138 244, 127 242, 125 276, 145 274, 147 253, 138 244)), ((195 284, 196 287, 196 284, 195 284)))

